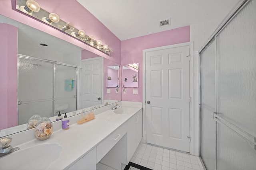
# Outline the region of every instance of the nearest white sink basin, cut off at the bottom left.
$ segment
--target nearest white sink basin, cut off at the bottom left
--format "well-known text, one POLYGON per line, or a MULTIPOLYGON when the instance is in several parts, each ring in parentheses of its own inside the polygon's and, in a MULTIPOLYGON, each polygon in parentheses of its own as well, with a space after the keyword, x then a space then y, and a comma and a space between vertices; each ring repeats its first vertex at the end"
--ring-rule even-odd
POLYGON ((59 156, 62 147, 58 144, 44 144, 17 150, 0 157, 2 170, 45 170, 59 156))

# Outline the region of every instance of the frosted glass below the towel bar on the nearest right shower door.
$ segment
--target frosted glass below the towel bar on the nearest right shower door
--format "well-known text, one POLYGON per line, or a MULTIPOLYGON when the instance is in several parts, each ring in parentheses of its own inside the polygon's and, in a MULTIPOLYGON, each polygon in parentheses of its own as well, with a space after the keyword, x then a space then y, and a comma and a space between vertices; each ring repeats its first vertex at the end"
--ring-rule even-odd
POLYGON ((256 150, 223 125, 217 131, 217 170, 256 170, 256 150))

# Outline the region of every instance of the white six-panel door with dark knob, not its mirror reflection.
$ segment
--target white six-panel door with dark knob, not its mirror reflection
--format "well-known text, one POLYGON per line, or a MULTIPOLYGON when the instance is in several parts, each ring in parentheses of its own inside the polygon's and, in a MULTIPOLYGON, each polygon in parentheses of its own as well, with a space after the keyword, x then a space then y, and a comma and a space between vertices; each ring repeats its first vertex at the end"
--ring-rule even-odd
POLYGON ((146 52, 146 142, 190 152, 189 45, 146 52))

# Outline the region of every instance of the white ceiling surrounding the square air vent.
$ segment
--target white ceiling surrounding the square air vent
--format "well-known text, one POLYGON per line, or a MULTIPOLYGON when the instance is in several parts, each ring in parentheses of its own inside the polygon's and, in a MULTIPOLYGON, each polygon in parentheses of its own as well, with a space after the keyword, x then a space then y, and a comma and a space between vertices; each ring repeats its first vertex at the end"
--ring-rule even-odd
POLYGON ((77 0, 120 40, 222 20, 238 0, 77 0), (171 18, 171 25, 159 27, 171 18))

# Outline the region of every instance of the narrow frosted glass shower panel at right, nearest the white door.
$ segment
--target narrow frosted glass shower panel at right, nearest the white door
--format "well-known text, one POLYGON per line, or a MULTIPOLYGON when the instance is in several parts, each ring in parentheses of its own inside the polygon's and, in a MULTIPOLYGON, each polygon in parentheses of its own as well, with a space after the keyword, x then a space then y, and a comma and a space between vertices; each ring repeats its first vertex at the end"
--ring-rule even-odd
POLYGON ((215 41, 201 53, 201 157, 208 170, 215 168, 216 121, 215 41))

